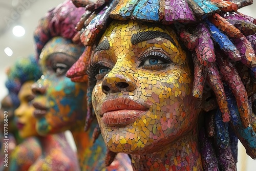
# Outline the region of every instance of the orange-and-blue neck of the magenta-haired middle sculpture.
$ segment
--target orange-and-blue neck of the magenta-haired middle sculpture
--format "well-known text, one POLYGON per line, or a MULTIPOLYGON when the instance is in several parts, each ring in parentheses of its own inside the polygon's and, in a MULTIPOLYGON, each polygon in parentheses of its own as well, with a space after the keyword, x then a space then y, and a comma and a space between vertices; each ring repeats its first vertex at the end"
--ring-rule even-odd
POLYGON ((87 132, 83 131, 83 127, 79 131, 72 131, 74 141, 77 147, 79 165, 81 170, 95 170, 104 167, 106 147, 100 134, 99 138, 93 143, 93 131, 97 121, 93 121, 87 132))

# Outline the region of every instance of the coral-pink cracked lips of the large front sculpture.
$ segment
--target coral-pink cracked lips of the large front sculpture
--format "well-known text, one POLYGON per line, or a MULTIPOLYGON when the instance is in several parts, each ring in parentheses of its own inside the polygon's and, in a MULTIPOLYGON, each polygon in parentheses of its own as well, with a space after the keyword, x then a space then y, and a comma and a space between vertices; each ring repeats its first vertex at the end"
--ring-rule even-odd
POLYGON ((148 108, 128 98, 105 100, 101 108, 101 117, 104 124, 122 126, 133 123, 138 117, 145 114, 148 108))

